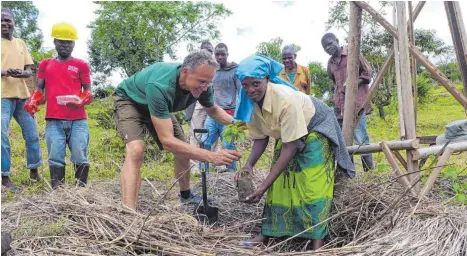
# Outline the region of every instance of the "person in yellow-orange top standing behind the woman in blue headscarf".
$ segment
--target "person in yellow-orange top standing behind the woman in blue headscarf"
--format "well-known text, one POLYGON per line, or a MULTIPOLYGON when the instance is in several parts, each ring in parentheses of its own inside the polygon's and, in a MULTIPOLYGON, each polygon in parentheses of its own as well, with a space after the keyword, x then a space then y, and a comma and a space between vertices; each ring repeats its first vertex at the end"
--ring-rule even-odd
POLYGON ((291 45, 286 45, 282 49, 282 64, 284 69, 279 77, 297 87, 306 95, 311 94, 311 76, 307 67, 298 65, 295 59, 297 53, 291 45))

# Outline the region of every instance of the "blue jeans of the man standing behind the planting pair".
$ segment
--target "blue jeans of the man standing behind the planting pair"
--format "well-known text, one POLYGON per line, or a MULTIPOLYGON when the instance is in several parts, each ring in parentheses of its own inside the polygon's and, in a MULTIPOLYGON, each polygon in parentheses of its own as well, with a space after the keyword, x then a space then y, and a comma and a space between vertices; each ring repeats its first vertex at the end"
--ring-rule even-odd
MULTIPOLYGON (((208 129, 208 134, 203 134, 203 136, 201 137, 201 141, 204 141, 205 149, 212 150, 213 144, 219 137, 221 137, 223 149, 235 150, 235 146, 233 143, 228 143, 226 140, 224 140, 224 138, 222 138, 222 132, 224 131, 224 127, 225 125, 218 123, 211 117, 208 116, 206 118, 206 121, 204 121, 204 128, 208 129)), ((232 164, 227 166, 227 168, 237 170, 237 162, 233 162, 232 164)))

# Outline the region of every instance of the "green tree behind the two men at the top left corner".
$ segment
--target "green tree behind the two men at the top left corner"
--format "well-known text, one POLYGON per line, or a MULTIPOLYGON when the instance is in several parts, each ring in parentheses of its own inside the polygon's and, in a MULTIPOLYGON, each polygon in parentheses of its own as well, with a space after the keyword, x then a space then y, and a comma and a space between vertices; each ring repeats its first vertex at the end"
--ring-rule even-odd
POLYGON ((13 35, 26 43, 29 52, 37 64, 53 56, 54 50, 42 48, 42 31, 37 26, 39 10, 31 1, 2 1, 2 8, 8 8, 15 16, 13 35))

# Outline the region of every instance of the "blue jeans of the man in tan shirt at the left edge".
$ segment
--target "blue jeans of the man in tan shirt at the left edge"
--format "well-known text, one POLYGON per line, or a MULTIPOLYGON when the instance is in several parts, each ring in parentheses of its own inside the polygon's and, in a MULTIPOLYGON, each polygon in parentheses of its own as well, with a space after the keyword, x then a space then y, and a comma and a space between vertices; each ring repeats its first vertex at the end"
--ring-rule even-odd
POLYGON ((37 133, 37 123, 24 110, 27 99, 2 99, 2 176, 10 176, 11 148, 8 128, 11 118, 18 122, 26 142, 26 168, 34 169, 42 166, 42 157, 37 133))

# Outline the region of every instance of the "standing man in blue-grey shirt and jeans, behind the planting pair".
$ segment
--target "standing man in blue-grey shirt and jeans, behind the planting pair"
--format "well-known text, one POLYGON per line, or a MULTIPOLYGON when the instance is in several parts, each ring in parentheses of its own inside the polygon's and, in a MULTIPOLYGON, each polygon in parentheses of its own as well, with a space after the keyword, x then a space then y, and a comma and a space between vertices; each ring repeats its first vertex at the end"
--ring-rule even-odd
MULTIPOLYGON (((233 116, 235 113, 235 105, 237 101, 238 91, 242 87, 242 83, 235 76, 235 71, 237 71, 237 64, 234 62, 227 62, 229 57, 229 50, 227 45, 220 43, 216 46, 214 50, 214 56, 216 61, 219 64, 219 69, 217 69, 216 76, 213 81, 214 88, 214 102, 216 105, 225 110, 229 115, 233 116)), ((222 137, 222 132, 224 131, 224 124, 217 122, 211 117, 207 117, 204 122, 204 128, 208 129, 208 134, 204 134, 202 141, 204 141, 204 148, 211 150, 213 145, 221 137, 222 148, 224 149, 233 149, 235 146, 232 143, 228 143, 222 137)), ((237 171, 236 162, 233 162, 231 165, 223 171, 235 172, 237 171)))

